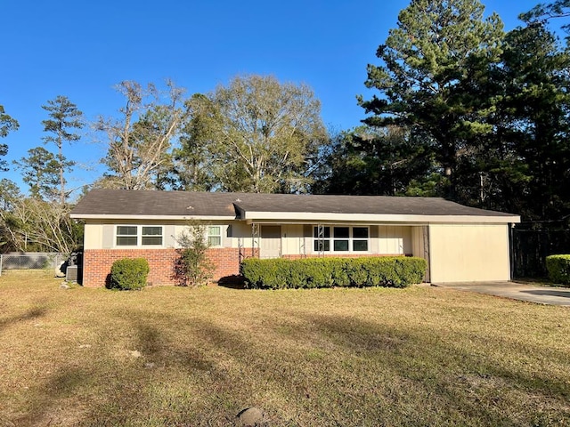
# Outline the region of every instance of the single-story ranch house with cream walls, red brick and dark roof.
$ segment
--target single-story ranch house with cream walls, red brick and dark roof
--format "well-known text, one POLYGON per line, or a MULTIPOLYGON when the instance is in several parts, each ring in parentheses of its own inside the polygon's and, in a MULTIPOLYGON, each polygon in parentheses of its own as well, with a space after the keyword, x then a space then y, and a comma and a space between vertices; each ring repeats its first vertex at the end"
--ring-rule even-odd
POLYGON ((431 283, 510 279, 514 214, 436 197, 314 196, 94 189, 71 218, 85 222, 83 285, 104 286, 115 260, 143 257, 149 282, 174 284, 178 238, 207 228, 215 280, 248 256, 419 256, 431 283))

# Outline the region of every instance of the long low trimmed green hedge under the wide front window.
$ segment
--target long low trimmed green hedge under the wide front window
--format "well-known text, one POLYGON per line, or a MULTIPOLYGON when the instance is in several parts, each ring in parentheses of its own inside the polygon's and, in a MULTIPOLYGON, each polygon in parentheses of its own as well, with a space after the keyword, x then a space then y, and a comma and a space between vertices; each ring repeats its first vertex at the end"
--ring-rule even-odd
POLYGON ((257 289, 333 286, 406 287, 420 283, 427 262, 416 257, 305 258, 241 262, 246 286, 257 289))

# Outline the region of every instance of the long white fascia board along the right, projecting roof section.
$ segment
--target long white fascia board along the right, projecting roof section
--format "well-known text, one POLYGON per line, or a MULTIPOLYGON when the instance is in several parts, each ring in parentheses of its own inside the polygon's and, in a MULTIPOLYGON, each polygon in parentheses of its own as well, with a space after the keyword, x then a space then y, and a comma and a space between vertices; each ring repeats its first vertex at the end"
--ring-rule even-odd
POLYGON ((369 222, 416 224, 508 224, 520 222, 520 216, 476 215, 406 215, 406 214, 327 214, 314 212, 247 212, 243 220, 250 222, 369 222))

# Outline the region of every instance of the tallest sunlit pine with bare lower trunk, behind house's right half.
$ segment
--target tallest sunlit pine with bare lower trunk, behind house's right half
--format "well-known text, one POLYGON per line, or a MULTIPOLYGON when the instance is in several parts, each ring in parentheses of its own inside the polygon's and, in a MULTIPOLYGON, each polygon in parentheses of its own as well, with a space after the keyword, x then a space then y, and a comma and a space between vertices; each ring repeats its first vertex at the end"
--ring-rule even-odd
POLYGON ((476 91, 465 90, 465 83, 485 76, 489 64, 499 60, 502 36, 499 17, 485 19, 477 0, 412 0, 379 46, 381 64, 368 67, 366 85, 380 95, 360 98, 373 114, 364 123, 398 125, 431 140, 450 183, 449 197, 458 197, 461 157, 472 155, 476 137, 492 130, 485 123, 489 100, 482 103, 476 91))

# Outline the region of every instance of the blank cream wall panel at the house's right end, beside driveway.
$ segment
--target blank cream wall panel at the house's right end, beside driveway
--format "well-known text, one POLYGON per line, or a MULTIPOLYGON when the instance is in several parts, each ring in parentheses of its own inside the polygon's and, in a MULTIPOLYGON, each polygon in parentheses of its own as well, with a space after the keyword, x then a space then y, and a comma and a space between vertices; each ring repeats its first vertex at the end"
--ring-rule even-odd
POLYGON ((509 280, 507 224, 430 225, 432 283, 509 280))

